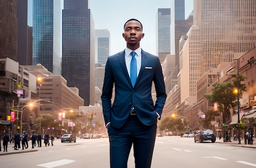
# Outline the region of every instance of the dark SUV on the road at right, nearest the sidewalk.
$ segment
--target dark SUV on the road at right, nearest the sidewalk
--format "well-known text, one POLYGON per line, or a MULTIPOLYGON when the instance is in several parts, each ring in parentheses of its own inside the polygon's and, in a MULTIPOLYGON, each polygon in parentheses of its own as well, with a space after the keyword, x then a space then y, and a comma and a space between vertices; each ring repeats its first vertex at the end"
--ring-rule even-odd
POLYGON ((216 141, 216 134, 212 130, 201 130, 195 134, 194 141, 207 141, 210 140, 212 143, 216 141))

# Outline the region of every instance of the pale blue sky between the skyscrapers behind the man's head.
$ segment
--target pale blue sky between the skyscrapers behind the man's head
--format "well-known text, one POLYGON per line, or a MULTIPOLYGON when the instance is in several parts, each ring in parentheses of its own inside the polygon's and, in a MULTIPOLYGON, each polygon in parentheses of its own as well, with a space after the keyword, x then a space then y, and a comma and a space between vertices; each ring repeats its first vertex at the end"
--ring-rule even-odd
MULTIPOLYGON (((28 0, 28 17, 32 16, 32 0, 28 0)), ((172 0, 90 0, 89 8, 95 29, 110 31, 110 55, 126 48, 122 37, 124 23, 135 18, 143 25, 144 38, 140 42, 141 49, 156 55, 156 15, 159 8, 171 8, 172 0)), ((193 0, 185 0, 185 19, 193 11, 193 0)), ((32 26, 31 19, 28 22, 32 26)))

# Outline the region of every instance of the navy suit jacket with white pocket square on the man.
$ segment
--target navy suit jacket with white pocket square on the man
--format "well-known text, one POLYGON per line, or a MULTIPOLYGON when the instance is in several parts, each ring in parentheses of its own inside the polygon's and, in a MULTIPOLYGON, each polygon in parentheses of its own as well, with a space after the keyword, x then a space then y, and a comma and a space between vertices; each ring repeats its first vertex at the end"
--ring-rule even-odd
MULTIPOLYGON (((141 50, 141 69, 134 87, 125 63, 125 52, 108 57, 102 89, 102 108, 105 124, 121 128, 130 115, 132 104, 137 117, 147 126, 157 123, 157 113, 162 115, 166 100, 164 77, 159 58, 141 50), (157 100, 151 96, 152 83, 155 84, 157 100), (115 99, 111 103, 115 84, 115 99), (156 113, 157 112, 157 113, 156 113)), ((160 119, 160 118, 159 118, 160 119)))

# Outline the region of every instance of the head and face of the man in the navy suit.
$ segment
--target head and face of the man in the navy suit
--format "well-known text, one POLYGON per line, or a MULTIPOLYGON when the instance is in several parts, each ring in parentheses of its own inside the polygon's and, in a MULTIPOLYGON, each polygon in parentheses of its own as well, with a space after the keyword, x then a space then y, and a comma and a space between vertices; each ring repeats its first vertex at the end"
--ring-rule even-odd
POLYGON ((144 33, 142 33, 141 24, 139 22, 136 20, 131 20, 126 23, 124 27, 123 38, 126 40, 128 48, 135 47, 135 49, 137 49, 139 47, 139 42, 143 37, 144 33))

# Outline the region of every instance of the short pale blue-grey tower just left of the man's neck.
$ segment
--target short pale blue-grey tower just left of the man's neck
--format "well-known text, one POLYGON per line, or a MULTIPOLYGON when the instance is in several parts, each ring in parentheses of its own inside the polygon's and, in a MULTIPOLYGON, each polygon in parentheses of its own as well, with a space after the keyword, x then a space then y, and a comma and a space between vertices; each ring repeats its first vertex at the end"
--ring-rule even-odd
POLYGON ((95 30, 95 62, 106 64, 110 55, 110 33, 108 30, 95 30))

